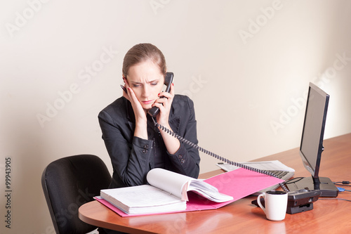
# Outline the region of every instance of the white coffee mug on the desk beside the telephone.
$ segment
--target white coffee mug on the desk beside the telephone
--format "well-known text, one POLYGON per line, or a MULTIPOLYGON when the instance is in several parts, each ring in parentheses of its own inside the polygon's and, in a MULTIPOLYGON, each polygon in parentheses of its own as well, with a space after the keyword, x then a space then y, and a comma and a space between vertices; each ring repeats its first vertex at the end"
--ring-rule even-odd
POLYGON ((288 193, 284 191, 267 191, 257 197, 257 203, 265 212, 267 219, 281 221, 285 219, 286 207, 288 204, 288 193), (265 207, 260 202, 260 198, 265 200, 265 207))

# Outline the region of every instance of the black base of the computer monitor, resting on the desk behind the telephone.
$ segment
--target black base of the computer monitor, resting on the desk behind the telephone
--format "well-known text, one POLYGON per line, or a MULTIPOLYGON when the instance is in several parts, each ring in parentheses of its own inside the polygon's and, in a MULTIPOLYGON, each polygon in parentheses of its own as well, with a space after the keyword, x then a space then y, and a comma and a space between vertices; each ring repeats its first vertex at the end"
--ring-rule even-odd
POLYGON ((296 182, 288 182, 286 186, 290 191, 300 189, 321 190, 321 195, 319 197, 337 197, 339 193, 338 188, 336 188, 331 179, 327 177, 305 177, 300 180, 296 179, 296 182))

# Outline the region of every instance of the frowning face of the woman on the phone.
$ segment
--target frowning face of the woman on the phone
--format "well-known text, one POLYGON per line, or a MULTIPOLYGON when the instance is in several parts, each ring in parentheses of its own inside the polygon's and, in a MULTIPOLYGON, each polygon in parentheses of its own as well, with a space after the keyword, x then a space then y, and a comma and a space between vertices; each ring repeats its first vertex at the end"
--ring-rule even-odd
POLYGON ((129 67, 126 78, 143 108, 145 110, 152 108, 164 86, 164 75, 159 66, 151 60, 146 60, 129 67))

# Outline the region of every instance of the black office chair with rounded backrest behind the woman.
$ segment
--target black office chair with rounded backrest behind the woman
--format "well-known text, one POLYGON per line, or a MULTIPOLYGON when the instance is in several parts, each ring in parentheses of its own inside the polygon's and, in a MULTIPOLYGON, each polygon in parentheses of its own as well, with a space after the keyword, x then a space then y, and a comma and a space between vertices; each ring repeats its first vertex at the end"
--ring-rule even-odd
POLYGON ((48 164, 41 186, 58 234, 88 233, 96 227, 78 217, 79 207, 108 188, 110 172, 95 155, 75 155, 48 164))

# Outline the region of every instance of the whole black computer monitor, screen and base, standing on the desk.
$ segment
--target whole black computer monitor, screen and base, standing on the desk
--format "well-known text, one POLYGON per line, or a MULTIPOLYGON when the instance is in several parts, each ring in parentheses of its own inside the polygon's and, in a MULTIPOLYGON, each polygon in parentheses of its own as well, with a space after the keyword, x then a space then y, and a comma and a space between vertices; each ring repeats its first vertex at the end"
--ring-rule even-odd
POLYGON ((319 177, 319 166, 324 150, 323 137, 328 110, 329 95, 310 83, 307 96, 303 134, 300 143, 300 157, 311 177, 297 178, 286 184, 289 190, 320 190, 320 197, 337 197, 338 188, 330 178, 319 177))

